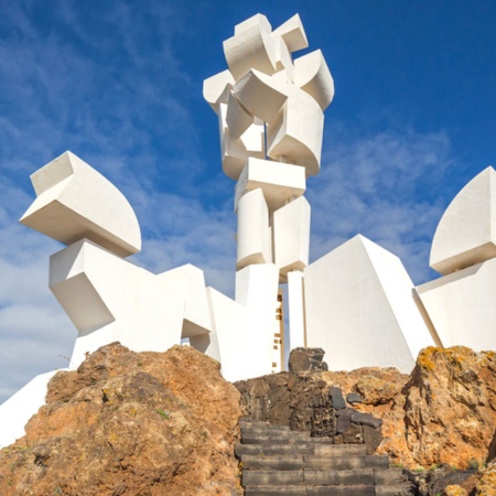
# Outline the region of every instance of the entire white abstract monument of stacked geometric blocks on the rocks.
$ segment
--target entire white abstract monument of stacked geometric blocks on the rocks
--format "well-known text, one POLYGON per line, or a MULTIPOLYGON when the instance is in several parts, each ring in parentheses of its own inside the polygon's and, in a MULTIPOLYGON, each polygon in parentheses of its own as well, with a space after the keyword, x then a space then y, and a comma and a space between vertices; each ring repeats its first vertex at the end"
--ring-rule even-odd
MULTIPOLYGON (((334 370, 409 373, 422 347, 496 349, 496 172, 468 183, 443 215, 418 288, 400 259, 360 235, 309 263, 306 177, 319 174, 334 82, 296 14, 272 30, 257 14, 224 42, 227 69, 204 82, 218 117, 222 168, 236 181, 236 294, 206 287, 185 265, 154 274, 126 258, 141 249, 123 195, 71 152, 32 176, 21 223, 66 245, 50 259, 50 289, 77 328, 69 368, 119 341, 164 352, 188 339, 228 380, 284 368, 284 351, 322 347, 334 370), (284 342, 282 291, 289 322, 284 342)), ((332 198, 331 198, 332 201, 332 198)), ((0 406, 0 448, 24 433, 55 371, 0 406)))

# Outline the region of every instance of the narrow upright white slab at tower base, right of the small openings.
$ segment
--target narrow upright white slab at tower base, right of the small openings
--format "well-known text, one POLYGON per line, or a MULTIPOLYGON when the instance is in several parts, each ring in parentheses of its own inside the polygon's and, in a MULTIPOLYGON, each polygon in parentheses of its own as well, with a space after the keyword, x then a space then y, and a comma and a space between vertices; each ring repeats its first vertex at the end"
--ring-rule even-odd
POLYGON ((304 277, 301 270, 288 272, 289 343, 288 348, 306 346, 304 277))

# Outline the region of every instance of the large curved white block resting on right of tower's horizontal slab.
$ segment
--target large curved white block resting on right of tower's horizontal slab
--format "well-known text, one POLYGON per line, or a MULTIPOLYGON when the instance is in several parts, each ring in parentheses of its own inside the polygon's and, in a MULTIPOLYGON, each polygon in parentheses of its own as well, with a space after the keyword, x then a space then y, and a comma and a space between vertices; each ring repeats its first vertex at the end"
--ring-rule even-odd
POLYGON ((303 165, 306 175, 321 170, 324 114, 306 91, 290 87, 289 97, 276 121, 267 130, 268 155, 303 165))

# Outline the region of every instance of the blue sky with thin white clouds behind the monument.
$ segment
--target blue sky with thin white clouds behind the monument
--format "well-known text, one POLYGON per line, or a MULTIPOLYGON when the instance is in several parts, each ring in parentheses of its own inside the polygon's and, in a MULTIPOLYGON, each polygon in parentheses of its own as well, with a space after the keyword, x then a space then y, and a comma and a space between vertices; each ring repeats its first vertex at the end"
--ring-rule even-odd
MULTIPOLYGON (((461 187, 496 161, 496 2, 0 0, 0 401, 65 367, 75 330, 47 289, 62 245, 18 219, 30 174, 71 150, 134 207, 152 271, 192 262, 231 294, 234 183, 203 79, 223 40, 300 13, 336 96, 309 181, 315 260, 362 233, 433 279, 430 242, 461 187)), ((304 52, 303 52, 304 53, 304 52)), ((299 54, 296 54, 299 55, 299 54)))

